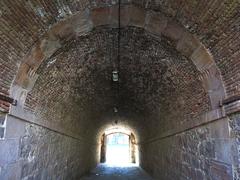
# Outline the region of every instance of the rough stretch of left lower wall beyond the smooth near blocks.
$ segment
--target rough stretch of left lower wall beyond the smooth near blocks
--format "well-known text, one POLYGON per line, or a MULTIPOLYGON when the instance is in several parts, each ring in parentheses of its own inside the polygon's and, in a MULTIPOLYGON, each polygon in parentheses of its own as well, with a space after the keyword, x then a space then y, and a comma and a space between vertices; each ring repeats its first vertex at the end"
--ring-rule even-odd
POLYGON ((20 139, 21 178, 78 179, 94 166, 91 142, 28 125, 20 139), (92 152, 91 152, 92 150, 92 152))

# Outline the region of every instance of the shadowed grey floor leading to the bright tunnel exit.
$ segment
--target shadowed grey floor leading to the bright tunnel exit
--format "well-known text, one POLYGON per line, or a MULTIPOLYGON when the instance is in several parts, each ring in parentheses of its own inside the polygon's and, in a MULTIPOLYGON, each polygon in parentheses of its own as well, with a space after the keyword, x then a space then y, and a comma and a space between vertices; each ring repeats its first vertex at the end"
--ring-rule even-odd
POLYGON ((80 180, 153 180, 138 166, 126 167, 99 164, 90 174, 80 180))

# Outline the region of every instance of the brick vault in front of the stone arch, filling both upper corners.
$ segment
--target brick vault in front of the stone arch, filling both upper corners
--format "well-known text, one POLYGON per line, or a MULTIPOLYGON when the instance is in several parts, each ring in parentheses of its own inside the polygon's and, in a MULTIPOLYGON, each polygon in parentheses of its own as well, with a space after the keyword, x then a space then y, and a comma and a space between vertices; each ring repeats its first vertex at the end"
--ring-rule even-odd
MULTIPOLYGON (((227 85, 229 96, 238 94, 238 69, 240 68, 237 62, 239 59, 239 19, 235 18, 239 12, 239 2, 237 0, 216 1, 214 3, 209 1, 207 4, 191 1, 184 3, 178 1, 164 3, 161 1, 132 2, 148 9, 160 10, 171 17, 175 17, 192 33, 198 35, 214 54, 214 59, 218 63, 227 85), (217 5, 219 5, 219 8, 215 8, 217 5), (235 67, 234 70, 232 69, 233 66, 235 67), (229 72, 234 74, 230 75, 229 72)), ((131 3, 131 1, 123 1, 122 3, 131 3)), ((1 88, 4 91, 9 91, 17 70, 17 64, 23 59, 34 42, 54 23, 88 7, 96 8, 116 4, 117 1, 64 1, 62 3, 55 1, 44 3, 2 1, 1 65, 8 70, 2 78, 1 88)))

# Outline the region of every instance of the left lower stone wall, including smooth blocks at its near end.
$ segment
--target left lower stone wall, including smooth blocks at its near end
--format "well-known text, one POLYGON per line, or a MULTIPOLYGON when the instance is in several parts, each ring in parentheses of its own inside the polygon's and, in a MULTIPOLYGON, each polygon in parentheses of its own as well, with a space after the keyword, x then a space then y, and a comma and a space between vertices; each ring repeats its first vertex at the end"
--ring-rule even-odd
POLYGON ((0 179, 78 179, 96 165, 93 142, 8 115, 0 179))

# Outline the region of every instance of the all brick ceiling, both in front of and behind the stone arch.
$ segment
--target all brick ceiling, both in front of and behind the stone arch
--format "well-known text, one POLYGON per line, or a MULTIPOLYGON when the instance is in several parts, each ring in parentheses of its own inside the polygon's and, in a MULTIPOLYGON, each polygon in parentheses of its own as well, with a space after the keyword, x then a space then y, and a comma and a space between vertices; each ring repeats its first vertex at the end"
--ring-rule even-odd
MULTIPOLYGON (((1 91, 9 93, 19 64, 54 24, 86 8, 116 4, 117 1, 97 0, 2 0, 0 63, 7 68, 3 68, 1 91)), ((238 0, 133 0, 122 1, 122 4, 161 12, 182 24, 209 48, 225 82, 226 94, 240 93, 240 21, 235 18, 240 12, 238 0)), ((156 38, 137 27, 121 30, 119 96, 116 97, 111 73, 117 59, 117 35, 118 29, 100 26, 85 36, 67 41, 37 70, 39 78, 28 94, 25 108, 36 111, 46 120, 64 117, 62 126, 68 124, 75 128, 82 124, 76 126, 68 114, 83 120, 99 119, 112 114, 115 106, 119 114, 126 116, 131 113, 154 118, 170 116, 172 124, 182 119, 181 116, 190 119, 210 109, 209 97, 192 61, 177 52, 170 39, 156 38), (169 113, 177 107, 178 113, 169 113)))

